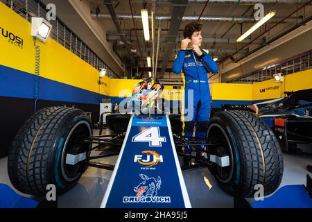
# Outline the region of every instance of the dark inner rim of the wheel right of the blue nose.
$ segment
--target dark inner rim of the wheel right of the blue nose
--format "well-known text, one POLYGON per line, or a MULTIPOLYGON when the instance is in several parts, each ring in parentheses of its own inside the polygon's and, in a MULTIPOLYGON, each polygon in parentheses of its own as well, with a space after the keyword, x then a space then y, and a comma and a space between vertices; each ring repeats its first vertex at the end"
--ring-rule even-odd
POLYGON ((218 153, 227 153, 229 156, 229 166, 228 167, 220 167, 218 164, 216 164, 216 178, 220 180, 220 182, 227 183, 231 180, 234 172, 234 160, 233 160, 233 152, 232 152, 232 146, 229 142, 229 137, 227 136, 227 133, 225 133, 225 130, 217 124, 212 123, 209 125, 209 128, 207 130, 207 139, 214 138, 218 142, 221 142, 224 144, 224 146, 221 146, 218 148, 218 153))

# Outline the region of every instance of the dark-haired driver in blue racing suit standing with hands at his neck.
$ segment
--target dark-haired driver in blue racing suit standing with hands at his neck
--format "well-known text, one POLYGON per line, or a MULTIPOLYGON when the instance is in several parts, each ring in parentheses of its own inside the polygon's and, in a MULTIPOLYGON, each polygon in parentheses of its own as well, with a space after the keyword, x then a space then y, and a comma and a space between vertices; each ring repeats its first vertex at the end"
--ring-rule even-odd
MULTIPOLYGON (((191 22, 184 28, 184 40, 181 42, 181 49, 175 56, 172 71, 181 74, 184 85, 184 102, 182 102, 181 121, 182 136, 192 137, 196 123, 196 138, 205 138, 207 125, 210 116, 210 91, 207 71, 216 73, 218 65, 212 60, 209 51, 200 49, 202 44, 202 24, 191 22), (193 94, 189 94, 193 90, 193 94), (188 96, 192 96, 188 104, 188 96), (187 117, 186 110, 193 109, 192 117, 187 117), (187 117, 187 118, 185 118, 187 117)), ((204 147, 202 147, 204 148, 204 147)), ((184 146, 184 164, 191 160, 191 146, 184 146)), ((196 157, 202 157, 204 152, 198 152, 196 157)))

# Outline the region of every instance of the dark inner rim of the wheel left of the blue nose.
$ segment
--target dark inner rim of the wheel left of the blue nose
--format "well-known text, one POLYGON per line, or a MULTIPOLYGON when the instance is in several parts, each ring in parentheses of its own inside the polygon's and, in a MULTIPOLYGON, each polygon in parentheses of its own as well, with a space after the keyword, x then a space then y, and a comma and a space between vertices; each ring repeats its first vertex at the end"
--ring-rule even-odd
MULTIPOLYGON (((72 182, 73 180, 79 178, 82 169, 85 168, 85 163, 87 160, 78 162, 75 165, 66 164, 67 153, 73 149, 76 149, 77 147, 82 148, 83 151, 88 151, 91 148, 91 144, 81 144, 74 141, 78 140, 79 137, 88 138, 91 135, 92 130, 87 121, 80 121, 76 123, 76 125, 71 128, 71 131, 67 135, 62 151, 61 170, 63 178, 68 182, 72 182)), ((87 152, 87 156, 88 155, 89 153, 87 152)))

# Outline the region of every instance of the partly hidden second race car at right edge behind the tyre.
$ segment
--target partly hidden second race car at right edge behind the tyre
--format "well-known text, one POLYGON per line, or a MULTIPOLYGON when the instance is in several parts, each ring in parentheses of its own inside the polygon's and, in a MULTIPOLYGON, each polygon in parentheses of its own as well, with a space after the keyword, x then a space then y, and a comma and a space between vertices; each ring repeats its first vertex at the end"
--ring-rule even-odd
POLYGON ((312 153, 312 89, 285 92, 285 98, 253 105, 225 105, 226 110, 249 110, 275 133, 281 150, 312 153))

